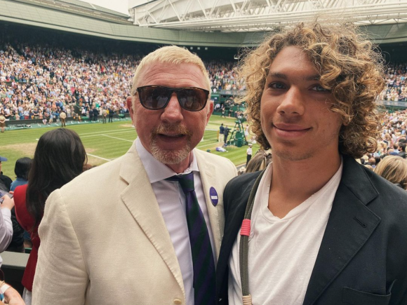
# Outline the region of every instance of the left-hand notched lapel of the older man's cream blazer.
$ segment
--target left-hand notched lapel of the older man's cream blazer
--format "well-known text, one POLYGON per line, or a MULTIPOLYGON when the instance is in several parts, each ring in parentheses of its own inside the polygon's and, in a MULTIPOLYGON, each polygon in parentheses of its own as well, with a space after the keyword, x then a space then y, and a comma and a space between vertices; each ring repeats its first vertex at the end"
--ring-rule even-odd
POLYGON ((166 223, 149 183, 149 178, 135 149, 135 144, 124 156, 120 175, 128 186, 121 193, 121 199, 145 235, 166 262, 185 296, 182 273, 173 248, 166 223))

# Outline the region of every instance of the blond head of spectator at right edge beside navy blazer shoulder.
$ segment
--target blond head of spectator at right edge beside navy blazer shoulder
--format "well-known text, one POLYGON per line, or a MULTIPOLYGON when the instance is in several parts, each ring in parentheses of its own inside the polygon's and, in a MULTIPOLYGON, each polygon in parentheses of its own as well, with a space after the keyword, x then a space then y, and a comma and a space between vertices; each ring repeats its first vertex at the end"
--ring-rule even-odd
POLYGON ((407 160, 399 156, 386 156, 375 168, 375 173, 407 189, 407 160))

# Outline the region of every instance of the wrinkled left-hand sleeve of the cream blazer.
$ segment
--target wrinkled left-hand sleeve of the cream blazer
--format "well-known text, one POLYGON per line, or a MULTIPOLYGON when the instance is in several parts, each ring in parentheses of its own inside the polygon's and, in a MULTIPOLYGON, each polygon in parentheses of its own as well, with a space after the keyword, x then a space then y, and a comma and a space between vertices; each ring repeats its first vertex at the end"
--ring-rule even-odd
POLYGON ((46 201, 39 238, 32 304, 83 305, 88 273, 59 189, 46 201))

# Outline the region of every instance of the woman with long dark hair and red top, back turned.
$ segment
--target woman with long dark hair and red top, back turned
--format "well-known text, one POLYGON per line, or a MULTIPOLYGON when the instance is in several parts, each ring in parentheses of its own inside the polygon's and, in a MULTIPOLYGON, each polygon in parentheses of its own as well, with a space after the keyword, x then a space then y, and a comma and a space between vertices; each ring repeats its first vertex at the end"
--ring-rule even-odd
POLYGON ((86 161, 84 145, 74 131, 65 128, 48 131, 39 138, 28 184, 14 191, 15 214, 22 227, 30 232, 33 244, 22 278, 23 298, 27 305, 31 304, 40 245, 38 226, 44 215, 46 199, 52 191, 80 175, 86 161))

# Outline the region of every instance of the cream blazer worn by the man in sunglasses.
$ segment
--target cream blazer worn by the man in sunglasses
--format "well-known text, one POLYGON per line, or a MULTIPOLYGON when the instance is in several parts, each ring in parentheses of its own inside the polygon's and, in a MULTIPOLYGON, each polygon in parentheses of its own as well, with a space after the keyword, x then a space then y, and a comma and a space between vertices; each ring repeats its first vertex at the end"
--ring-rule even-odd
MULTIPOLYGON (((223 189, 236 167, 194 153, 219 255, 223 189), (216 206, 211 187, 218 191, 216 206)), ((54 191, 39 236, 33 305, 185 304, 178 259, 135 144, 54 191)))

